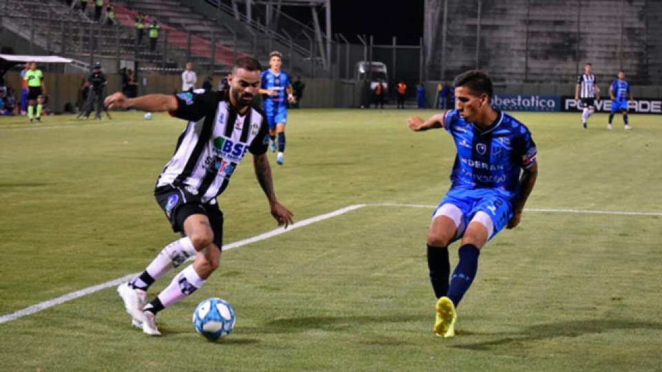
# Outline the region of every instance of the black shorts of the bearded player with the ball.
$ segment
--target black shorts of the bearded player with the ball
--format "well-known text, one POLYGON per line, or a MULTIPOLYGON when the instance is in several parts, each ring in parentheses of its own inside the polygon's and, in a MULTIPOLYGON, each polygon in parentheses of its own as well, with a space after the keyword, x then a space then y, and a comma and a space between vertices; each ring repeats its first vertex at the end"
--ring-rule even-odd
MULTIPOLYGON (((184 221, 193 214, 204 214, 214 232, 214 245, 223 246, 223 212, 216 203, 202 203, 199 196, 193 195, 183 187, 162 186, 154 190, 154 198, 165 217, 170 221, 174 232, 184 234, 184 221)), ((214 199, 212 199, 214 200, 214 199)))

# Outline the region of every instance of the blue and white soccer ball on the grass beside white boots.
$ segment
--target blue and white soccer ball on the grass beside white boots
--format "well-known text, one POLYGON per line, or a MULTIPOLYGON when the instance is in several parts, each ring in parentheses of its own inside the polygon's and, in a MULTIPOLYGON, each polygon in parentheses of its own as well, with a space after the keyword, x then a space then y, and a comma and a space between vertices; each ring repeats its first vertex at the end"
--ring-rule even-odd
POLYGON ((234 320, 234 309, 220 298, 200 302, 193 312, 193 327, 210 340, 229 335, 234 328, 234 320))

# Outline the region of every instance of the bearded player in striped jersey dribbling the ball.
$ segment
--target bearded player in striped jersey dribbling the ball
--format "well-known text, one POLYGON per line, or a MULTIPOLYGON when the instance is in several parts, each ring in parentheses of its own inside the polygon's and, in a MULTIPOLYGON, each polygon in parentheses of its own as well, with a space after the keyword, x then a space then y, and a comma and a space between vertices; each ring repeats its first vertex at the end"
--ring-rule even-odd
POLYGON ((288 227, 292 223, 292 213, 278 202, 274 192, 266 156, 267 120, 264 112, 251 105, 259 90, 260 70, 257 60, 238 59, 228 79, 228 96, 223 92, 193 90, 174 96, 148 94, 134 99, 117 92, 106 99, 110 109, 168 111, 187 121, 154 190, 165 217, 182 238, 163 247, 143 273, 117 287, 134 326, 149 335, 161 334, 155 322, 159 311, 199 289, 219 266, 223 213, 216 198, 228 187, 230 176, 247 152, 252 154, 255 175, 267 196, 272 216, 279 225, 288 227), (147 303, 148 287, 192 256, 193 264, 147 303))

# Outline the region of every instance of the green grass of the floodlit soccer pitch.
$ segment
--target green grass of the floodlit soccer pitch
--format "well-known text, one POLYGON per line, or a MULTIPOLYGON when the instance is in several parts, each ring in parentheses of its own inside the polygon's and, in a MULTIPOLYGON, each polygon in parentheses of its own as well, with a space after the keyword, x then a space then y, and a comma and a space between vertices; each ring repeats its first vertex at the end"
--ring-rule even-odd
MULTIPOLYGON (((152 196, 184 123, 0 118, 0 315, 141 271, 177 238, 152 196)), ((291 110, 274 183, 297 220, 366 206, 223 253, 205 287, 130 327, 114 288, 0 324, 0 371, 652 371, 662 365, 660 216, 528 211, 483 250, 459 334, 432 335, 425 234, 454 159, 414 110, 291 110), (194 333, 228 300, 232 335, 194 333)), ((662 116, 515 113, 539 147, 527 207, 659 212, 662 116)), ((225 242, 275 227, 250 158, 219 199, 225 242)), ((457 247, 457 246, 454 246, 457 247)), ((452 250, 454 251, 454 250, 452 250)), ((457 254, 452 254, 457 262, 457 254)), ((172 276, 150 289, 153 297, 172 276)))

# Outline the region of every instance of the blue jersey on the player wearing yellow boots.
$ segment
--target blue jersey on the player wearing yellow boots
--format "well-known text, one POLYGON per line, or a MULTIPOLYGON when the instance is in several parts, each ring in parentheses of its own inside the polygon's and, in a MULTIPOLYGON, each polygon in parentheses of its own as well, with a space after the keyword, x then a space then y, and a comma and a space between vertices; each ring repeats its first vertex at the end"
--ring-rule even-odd
POLYGON ((494 189, 508 200, 518 196, 520 171, 536 163, 536 144, 525 125, 498 114, 484 131, 464 121, 457 110, 443 115, 443 127, 457 147, 451 189, 494 189))

